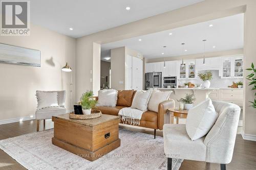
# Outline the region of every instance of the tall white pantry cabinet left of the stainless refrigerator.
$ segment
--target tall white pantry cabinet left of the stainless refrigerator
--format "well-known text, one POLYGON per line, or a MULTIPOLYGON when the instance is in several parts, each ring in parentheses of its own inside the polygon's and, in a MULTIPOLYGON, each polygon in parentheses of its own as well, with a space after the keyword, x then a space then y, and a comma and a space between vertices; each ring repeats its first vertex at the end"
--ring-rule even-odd
POLYGON ((125 90, 142 90, 143 61, 130 55, 125 56, 125 90))

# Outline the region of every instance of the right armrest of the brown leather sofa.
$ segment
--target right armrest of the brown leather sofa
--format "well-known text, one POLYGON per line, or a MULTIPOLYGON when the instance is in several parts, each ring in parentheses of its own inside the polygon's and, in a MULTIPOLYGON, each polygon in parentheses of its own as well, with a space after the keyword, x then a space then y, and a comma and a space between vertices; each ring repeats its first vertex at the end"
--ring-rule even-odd
POLYGON ((175 108, 175 101, 173 99, 164 101, 158 106, 157 124, 159 130, 163 129, 164 114, 168 108, 175 108))

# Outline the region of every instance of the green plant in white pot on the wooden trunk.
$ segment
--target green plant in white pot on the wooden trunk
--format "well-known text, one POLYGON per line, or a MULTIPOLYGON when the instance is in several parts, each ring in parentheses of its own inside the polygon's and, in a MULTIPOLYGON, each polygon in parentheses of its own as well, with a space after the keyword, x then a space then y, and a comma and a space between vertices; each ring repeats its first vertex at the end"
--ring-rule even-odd
POLYGON ((82 94, 78 104, 82 107, 83 114, 91 114, 92 108, 95 107, 97 101, 92 96, 93 91, 91 90, 82 94))

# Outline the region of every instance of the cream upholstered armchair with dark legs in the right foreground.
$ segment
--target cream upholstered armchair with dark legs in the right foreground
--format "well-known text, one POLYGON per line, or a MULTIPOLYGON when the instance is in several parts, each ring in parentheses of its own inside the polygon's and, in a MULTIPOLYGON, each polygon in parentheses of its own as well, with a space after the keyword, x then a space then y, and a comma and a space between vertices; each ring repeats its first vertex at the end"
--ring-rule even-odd
POLYGON ((212 101, 212 104, 218 119, 208 134, 197 140, 189 138, 186 125, 163 126, 167 169, 172 169, 172 158, 220 163, 221 170, 226 169, 226 164, 231 162, 241 109, 226 102, 212 101))

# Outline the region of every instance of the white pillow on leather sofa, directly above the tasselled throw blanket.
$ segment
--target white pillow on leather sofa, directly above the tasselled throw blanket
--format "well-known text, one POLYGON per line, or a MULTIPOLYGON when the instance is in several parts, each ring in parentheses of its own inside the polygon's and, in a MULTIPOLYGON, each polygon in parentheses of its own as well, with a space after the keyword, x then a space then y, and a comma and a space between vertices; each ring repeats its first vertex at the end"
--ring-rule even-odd
POLYGON ((136 91, 131 108, 139 109, 145 112, 147 109, 148 101, 150 101, 151 93, 152 89, 147 91, 136 91))

